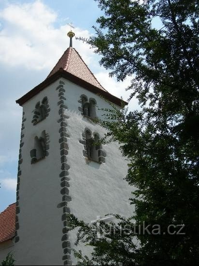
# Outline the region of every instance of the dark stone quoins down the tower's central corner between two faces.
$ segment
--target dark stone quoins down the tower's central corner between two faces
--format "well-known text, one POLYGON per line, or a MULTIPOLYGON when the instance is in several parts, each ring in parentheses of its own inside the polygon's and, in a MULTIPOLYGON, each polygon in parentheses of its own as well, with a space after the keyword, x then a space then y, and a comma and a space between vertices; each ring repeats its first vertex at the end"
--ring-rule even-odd
POLYGON ((68 227, 69 227, 69 214, 70 214, 70 208, 68 207, 68 202, 71 201, 71 196, 69 195, 69 169, 70 166, 67 163, 67 155, 68 155, 68 143, 67 138, 69 137, 69 134, 67 133, 67 119, 69 118, 65 111, 67 109, 67 106, 65 105, 66 98, 64 97, 64 85, 65 83, 63 81, 59 81, 59 86, 56 90, 58 90, 58 97, 59 100, 57 102, 57 105, 59 106, 59 119, 58 123, 60 124, 59 133, 59 144, 60 144, 60 163, 61 163, 61 172, 59 174, 60 178, 60 186, 61 190, 60 193, 62 194, 62 202, 57 205, 58 208, 63 209, 63 214, 61 217, 61 220, 63 222, 63 236, 61 238, 62 241, 62 249, 63 249, 63 264, 64 265, 71 265, 71 242, 69 240, 68 236, 68 227))

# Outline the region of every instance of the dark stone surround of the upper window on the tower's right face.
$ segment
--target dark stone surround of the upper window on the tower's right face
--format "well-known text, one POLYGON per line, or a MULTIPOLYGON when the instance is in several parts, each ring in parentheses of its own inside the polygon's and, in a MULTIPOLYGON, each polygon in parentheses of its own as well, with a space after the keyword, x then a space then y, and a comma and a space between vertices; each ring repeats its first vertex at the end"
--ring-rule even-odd
POLYGON ((97 102, 96 102, 95 98, 91 97, 88 100, 88 97, 85 94, 82 94, 82 95, 80 95, 80 100, 78 100, 78 103, 81 103, 81 106, 78 107, 78 110, 81 112, 82 116, 84 116, 86 118, 89 118, 89 119, 92 119, 92 120, 97 118, 97 114, 96 114, 97 102), (87 111, 87 114, 86 114, 86 111, 85 111, 86 109, 89 109, 91 103, 94 106, 93 107, 93 112, 95 113, 94 117, 89 116, 88 111, 87 111), (88 108, 84 108, 84 105, 88 105, 88 108))

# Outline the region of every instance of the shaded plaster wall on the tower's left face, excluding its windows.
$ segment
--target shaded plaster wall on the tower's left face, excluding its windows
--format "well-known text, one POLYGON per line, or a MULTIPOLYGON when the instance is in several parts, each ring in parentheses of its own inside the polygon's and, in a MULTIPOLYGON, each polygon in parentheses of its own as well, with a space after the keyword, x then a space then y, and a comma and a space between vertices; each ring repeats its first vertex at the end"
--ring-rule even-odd
POLYGON ((62 209, 57 204, 62 201, 60 194, 60 150, 58 116, 58 81, 41 91, 23 105, 24 146, 23 163, 19 189, 19 242, 15 244, 16 265, 61 265, 62 264, 62 209), (33 110, 38 101, 47 96, 49 116, 34 125, 31 123, 33 110), (31 164, 30 150, 34 137, 45 130, 50 137, 49 155, 31 164))

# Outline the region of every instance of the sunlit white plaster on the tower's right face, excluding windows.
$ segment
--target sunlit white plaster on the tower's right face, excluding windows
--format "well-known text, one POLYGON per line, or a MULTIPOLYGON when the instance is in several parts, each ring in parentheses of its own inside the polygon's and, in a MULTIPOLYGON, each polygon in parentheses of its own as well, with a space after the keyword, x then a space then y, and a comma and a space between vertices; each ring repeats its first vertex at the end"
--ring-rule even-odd
MULTIPOLYGON (((71 213, 75 214, 85 222, 95 220, 96 216, 103 217, 107 213, 119 213, 124 216, 131 216, 133 207, 129 205, 128 199, 131 197, 132 187, 123 180, 127 175, 127 161, 122 157, 118 145, 111 143, 104 145, 106 151, 106 162, 86 163, 83 156, 84 146, 79 143, 85 128, 92 132, 98 132, 102 137, 106 132, 95 123, 91 123, 88 118, 81 115, 78 103, 81 94, 85 94, 88 99, 94 98, 97 101, 97 117, 103 118, 102 111, 98 108, 112 108, 98 95, 81 88, 68 80, 65 80, 66 105, 68 106, 67 130, 70 133, 68 139, 69 154, 68 164, 70 165, 70 195, 71 202, 68 207, 71 213)), ((71 244, 75 241, 75 234, 70 233, 71 244)), ((72 245, 72 247, 74 247, 72 245)), ((75 260, 73 258, 73 263, 75 260)))

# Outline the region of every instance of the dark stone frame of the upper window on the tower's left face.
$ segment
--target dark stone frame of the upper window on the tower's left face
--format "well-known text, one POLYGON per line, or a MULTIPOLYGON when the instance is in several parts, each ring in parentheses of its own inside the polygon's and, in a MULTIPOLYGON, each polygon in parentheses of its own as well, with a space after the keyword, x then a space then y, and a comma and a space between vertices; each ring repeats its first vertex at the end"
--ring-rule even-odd
POLYGON ((49 101, 47 96, 45 96, 42 100, 42 103, 40 104, 40 101, 35 104, 35 109, 33 110, 33 118, 32 118, 32 124, 36 125, 39 122, 43 121, 46 117, 49 116, 50 108, 49 108, 49 101), (41 109, 45 108, 45 114, 40 113, 41 109))

